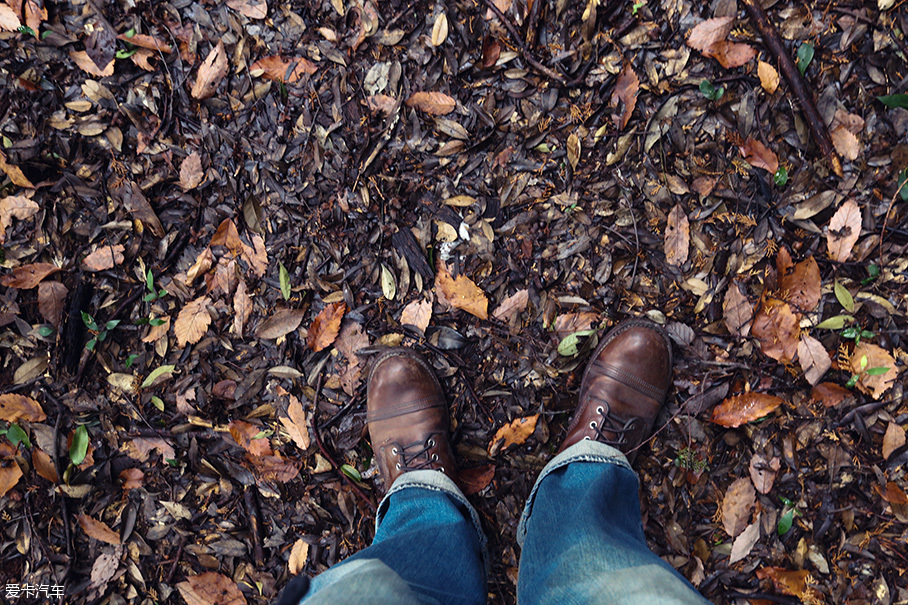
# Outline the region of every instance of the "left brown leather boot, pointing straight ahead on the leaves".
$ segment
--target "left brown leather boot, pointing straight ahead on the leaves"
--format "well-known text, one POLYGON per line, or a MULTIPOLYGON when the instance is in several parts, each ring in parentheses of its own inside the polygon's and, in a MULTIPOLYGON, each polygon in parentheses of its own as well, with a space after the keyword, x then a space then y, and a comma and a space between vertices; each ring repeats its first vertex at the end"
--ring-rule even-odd
POLYGON ((381 354, 369 372, 366 420, 385 489, 407 471, 455 478, 448 408, 432 367, 404 347, 381 354))

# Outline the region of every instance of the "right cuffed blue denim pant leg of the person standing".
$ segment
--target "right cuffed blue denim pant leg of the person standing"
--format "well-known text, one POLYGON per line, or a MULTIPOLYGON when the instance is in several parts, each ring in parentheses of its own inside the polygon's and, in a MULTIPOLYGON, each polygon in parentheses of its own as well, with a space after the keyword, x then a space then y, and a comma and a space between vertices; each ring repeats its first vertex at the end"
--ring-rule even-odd
POLYGON ((549 462, 517 530, 518 603, 707 603, 646 545, 638 485, 624 454, 595 441, 549 462))

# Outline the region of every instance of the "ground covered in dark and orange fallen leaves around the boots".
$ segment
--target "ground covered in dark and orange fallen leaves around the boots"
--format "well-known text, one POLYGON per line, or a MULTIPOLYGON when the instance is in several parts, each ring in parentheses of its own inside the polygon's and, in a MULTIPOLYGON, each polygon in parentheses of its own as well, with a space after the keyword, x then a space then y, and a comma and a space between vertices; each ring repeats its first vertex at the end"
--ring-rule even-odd
POLYGON ((0 3, 0 583, 267 602, 363 548, 364 380, 403 344, 513 603, 597 330, 646 315, 652 548, 715 602, 904 602, 904 31, 891 0, 0 3))

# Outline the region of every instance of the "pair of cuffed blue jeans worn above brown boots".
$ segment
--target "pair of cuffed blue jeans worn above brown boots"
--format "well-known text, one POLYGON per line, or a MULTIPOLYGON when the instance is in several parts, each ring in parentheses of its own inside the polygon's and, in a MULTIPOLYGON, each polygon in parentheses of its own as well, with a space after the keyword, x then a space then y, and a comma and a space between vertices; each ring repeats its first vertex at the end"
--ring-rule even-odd
MULTIPOLYGON (((608 445, 581 441, 549 462, 517 530, 517 601, 707 603, 647 547, 637 489, 608 445)), ((476 511, 442 473, 413 471, 382 500, 372 546, 313 578, 299 602, 485 603, 487 574, 476 511)))

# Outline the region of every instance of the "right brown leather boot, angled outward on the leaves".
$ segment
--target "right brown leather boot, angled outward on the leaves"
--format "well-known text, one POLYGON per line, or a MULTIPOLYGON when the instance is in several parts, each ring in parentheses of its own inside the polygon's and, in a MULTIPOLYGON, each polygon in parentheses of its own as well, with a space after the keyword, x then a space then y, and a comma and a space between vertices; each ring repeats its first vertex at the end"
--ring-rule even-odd
POLYGON ((618 448, 633 464, 652 434, 671 374, 672 348, 662 328, 640 319, 612 328, 583 374, 577 410, 559 451, 593 439, 618 448))

